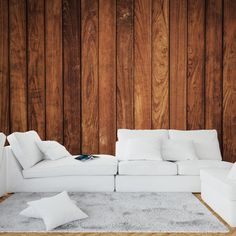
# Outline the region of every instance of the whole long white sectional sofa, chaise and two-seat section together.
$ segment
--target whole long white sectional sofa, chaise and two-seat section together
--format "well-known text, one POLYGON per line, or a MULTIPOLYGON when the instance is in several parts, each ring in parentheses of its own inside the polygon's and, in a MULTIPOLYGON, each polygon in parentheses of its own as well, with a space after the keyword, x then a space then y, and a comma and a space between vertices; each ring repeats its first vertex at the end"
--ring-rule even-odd
MULTIPOLYGON (((35 134, 32 133, 32 137, 34 136, 35 134)), ((37 141, 39 137, 36 136, 34 138, 37 141)), ((32 137, 28 141, 19 141, 21 145, 18 149, 25 146, 25 153, 31 153, 23 155, 23 152, 20 152, 21 158, 24 160, 35 155, 36 151, 29 148, 34 146, 32 137)), ((14 138, 13 142, 12 137, 8 137, 8 140, 11 143, 16 141, 14 138)), ((165 149, 160 145, 158 148, 161 148, 159 151, 162 152, 165 149)), ((174 150, 178 150, 178 148, 174 150)), ((163 153, 166 151, 168 152, 165 150, 163 153)), ((215 130, 120 129, 116 143, 116 157, 101 155, 101 158, 97 160, 80 162, 74 160, 73 157, 52 161, 40 159, 41 157, 37 155, 33 164, 23 168, 13 153, 13 148, 11 146, 5 147, 8 192, 57 192, 63 190, 80 192, 200 192, 199 175, 201 169, 229 169, 232 166, 232 163, 222 161, 215 130), (132 143, 140 138, 143 143, 146 143, 146 146, 143 143, 138 146, 135 146, 135 142, 132 143), (157 139, 160 143, 167 140, 168 145, 172 145, 172 143, 175 145, 176 140, 177 142, 178 140, 182 143, 186 142, 186 149, 190 156, 193 155, 191 145, 194 145, 198 157, 185 160, 181 155, 186 154, 180 150, 171 153, 174 158, 176 155, 179 160, 163 160, 162 154, 157 156, 153 154, 158 151, 155 150, 155 147, 153 150, 147 150, 149 146, 152 148, 152 145, 149 144, 153 144, 157 139), (148 142, 146 142, 147 140, 148 142), (128 144, 133 145, 131 145, 133 150, 128 150, 127 155, 128 144), (137 156, 135 151, 139 152, 137 156), (144 154, 139 155, 142 151, 145 151, 144 154)))

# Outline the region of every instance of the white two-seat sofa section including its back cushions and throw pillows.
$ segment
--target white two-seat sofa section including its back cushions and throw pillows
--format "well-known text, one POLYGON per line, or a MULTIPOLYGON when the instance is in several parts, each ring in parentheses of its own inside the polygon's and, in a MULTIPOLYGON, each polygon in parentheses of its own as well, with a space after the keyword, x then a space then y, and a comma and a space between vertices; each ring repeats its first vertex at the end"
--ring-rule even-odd
POLYGON ((120 129, 116 156, 116 191, 120 192, 200 192, 200 170, 232 167, 232 163, 222 161, 216 130, 120 129), (159 146, 152 145, 158 140, 159 146), (181 143, 182 149, 178 147, 181 143), (164 150, 172 149, 171 145, 173 150, 164 150))

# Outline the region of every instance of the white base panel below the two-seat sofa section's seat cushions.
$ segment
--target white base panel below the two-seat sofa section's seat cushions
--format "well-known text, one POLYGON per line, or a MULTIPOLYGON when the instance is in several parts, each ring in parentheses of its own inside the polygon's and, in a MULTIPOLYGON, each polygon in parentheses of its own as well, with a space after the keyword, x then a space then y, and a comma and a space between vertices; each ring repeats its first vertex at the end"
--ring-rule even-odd
POLYGON ((116 176, 117 192, 200 192, 199 176, 116 176))

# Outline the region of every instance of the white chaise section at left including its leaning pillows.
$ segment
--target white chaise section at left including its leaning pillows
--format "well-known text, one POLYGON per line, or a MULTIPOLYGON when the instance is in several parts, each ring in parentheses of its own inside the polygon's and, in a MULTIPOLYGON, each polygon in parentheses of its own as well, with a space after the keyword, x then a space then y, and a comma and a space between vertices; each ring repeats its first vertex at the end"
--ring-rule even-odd
POLYGON ((100 158, 82 162, 59 143, 42 141, 35 131, 16 132, 7 139, 10 143, 5 147, 8 192, 100 192, 115 189, 117 160, 114 156, 99 155, 100 158), (69 156, 54 159, 64 153, 69 156), (50 155, 53 158, 50 159, 50 155))

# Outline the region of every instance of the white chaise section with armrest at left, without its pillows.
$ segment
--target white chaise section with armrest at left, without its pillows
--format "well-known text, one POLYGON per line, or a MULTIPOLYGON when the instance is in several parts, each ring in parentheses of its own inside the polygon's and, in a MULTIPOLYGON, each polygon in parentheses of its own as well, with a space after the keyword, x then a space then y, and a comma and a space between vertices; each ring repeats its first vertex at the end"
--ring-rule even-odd
POLYGON ((80 162, 73 157, 43 160, 23 170, 11 147, 5 147, 8 192, 105 192, 114 191, 117 160, 110 155, 80 162))

